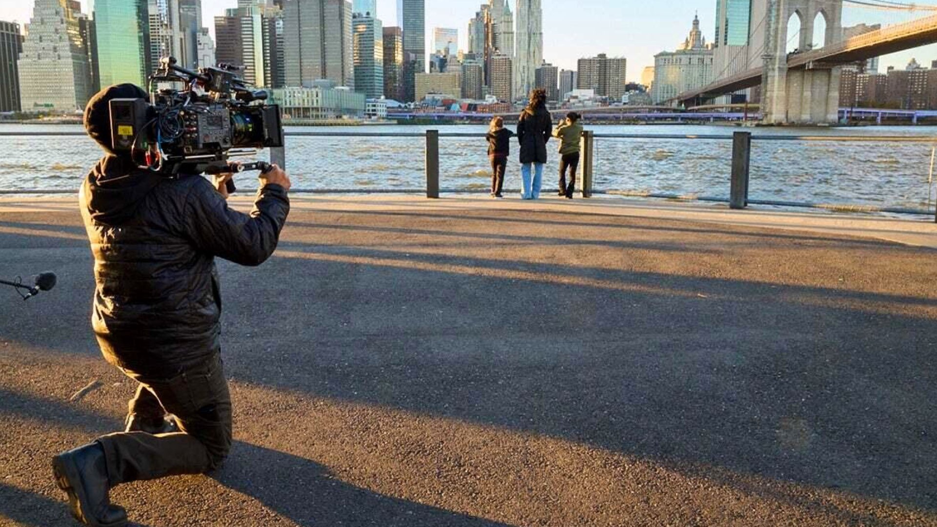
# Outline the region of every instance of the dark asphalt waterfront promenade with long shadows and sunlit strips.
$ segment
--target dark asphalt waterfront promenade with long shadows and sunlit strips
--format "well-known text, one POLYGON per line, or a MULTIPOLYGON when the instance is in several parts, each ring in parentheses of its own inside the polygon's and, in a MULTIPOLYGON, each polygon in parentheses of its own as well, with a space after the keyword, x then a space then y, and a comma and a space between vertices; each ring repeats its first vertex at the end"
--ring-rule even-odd
MULTIPOLYGON (((116 489, 139 525, 937 525, 931 222, 299 197, 219 267, 231 459, 116 489)), ((0 278, 43 270, 0 290, 0 525, 73 524, 49 459, 132 391, 74 200, 0 200, 0 278)))

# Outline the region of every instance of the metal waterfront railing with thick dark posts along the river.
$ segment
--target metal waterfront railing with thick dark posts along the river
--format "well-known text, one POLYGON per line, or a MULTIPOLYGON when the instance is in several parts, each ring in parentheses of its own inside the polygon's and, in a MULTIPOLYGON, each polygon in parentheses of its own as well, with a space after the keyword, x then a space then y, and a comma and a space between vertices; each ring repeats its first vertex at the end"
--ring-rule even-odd
MULTIPOLYGON (((351 131, 287 131, 287 137, 313 137, 313 138, 409 138, 421 139, 424 142, 424 173, 425 188, 383 188, 383 189, 352 189, 352 188, 294 188, 295 193, 424 193, 427 198, 439 198, 441 193, 466 192, 466 189, 440 188, 439 176, 439 141, 440 139, 480 139, 484 134, 471 132, 440 132, 439 130, 426 130, 424 132, 351 132, 351 131)), ((76 131, 28 131, 7 132, 0 131, 0 137, 77 137, 84 136, 76 131)), ((825 142, 825 143, 921 143, 928 144, 937 151, 937 136, 915 135, 810 135, 810 134, 758 134, 748 131, 736 131, 732 134, 647 134, 647 133, 595 133, 591 130, 583 132, 581 167, 581 193, 584 198, 596 194, 617 195, 637 198, 659 198, 678 201, 700 201, 729 203, 734 209, 745 209, 750 204, 773 205, 783 207, 807 207, 825 209, 838 212, 864 212, 864 213, 891 213, 912 214, 918 216, 934 215, 937 221, 937 212, 929 209, 909 207, 882 207, 874 205, 849 203, 810 203, 776 200, 753 200, 749 197, 751 183, 751 144, 759 142, 825 142), (731 171, 728 181, 729 196, 695 196, 684 194, 669 194, 661 192, 645 192, 622 190, 616 188, 595 188, 595 142, 596 140, 657 140, 657 141, 702 141, 702 142, 731 142, 732 156, 729 159, 731 171)), ((271 149, 271 160, 283 167, 287 166, 287 151, 285 148, 271 149)), ((929 188, 930 189, 930 188, 929 188)), ((0 195, 44 195, 44 194, 74 194, 76 190, 62 190, 52 188, 3 189, 0 195)))

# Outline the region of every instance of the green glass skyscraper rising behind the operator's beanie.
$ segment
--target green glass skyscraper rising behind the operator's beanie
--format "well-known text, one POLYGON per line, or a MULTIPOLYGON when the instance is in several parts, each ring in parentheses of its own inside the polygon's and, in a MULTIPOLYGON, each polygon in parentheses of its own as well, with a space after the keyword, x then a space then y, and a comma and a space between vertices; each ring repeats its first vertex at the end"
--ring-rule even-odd
POLYGON ((96 0, 97 74, 102 86, 146 85, 149 74, 147 0, 96 0))

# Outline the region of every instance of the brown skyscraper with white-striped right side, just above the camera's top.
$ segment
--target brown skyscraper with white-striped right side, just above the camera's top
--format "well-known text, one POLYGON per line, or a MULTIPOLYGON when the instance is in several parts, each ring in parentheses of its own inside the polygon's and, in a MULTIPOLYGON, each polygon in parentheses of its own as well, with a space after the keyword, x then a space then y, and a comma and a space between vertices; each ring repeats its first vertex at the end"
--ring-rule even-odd
POLYGON ((255 8, 232 8, 225 16, 215 17, 216 60, 233 66, 242 66, 246 83, 264 86, 262 15, 255 8))

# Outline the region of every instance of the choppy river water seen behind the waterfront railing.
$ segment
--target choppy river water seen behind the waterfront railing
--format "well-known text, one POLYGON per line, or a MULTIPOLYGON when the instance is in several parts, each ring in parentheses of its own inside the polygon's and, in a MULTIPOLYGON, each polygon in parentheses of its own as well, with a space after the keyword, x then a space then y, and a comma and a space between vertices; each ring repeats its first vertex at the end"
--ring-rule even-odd
MULTIPOLYGON (((429 127, 381 126, 288 128, 328 132, 423 132, 429 127)), ((719 134, 725 126, 595 126, 596 134, 719 134)), ((78 126, 0 125, 0 131, 80 131, 78 126)), ((483 133, 483 126, 439 127, 445 133, 483 133)), ((758 135, 933 136, 926 127, 749 128, 758 135)), ((934 143, 937 144, 937 143, 934 143)), ((553 154, 544 188, 555 188, 558 156, 553 154)), ((923 209, 929 203, 930 143, 851 143, 839 141, 757 141, 751 152, 753 200, 923 209)), ((727 198, 731 141, 596 139, 595 188, 727 198)), ((490 168, 483 139, 440 139, 440 186, 483 190, 490 168)), ((76 189, 101 152, 84 137, 0 136, 0 190, 76 189)), ((519 188, 516 143, 507 188, 519 188)), ((260 158, 264 158, 263 155, 260 158)), ((287 165, 294 188, 412 190, 424 188, 421 138, 288 137, 287 165)), ((247 177, 247 176, 245 176, 247 177)), ((240 186, 253 184, 245 180, 240 186)), ((937 191, 935 191, 937 193, 937 191)))

